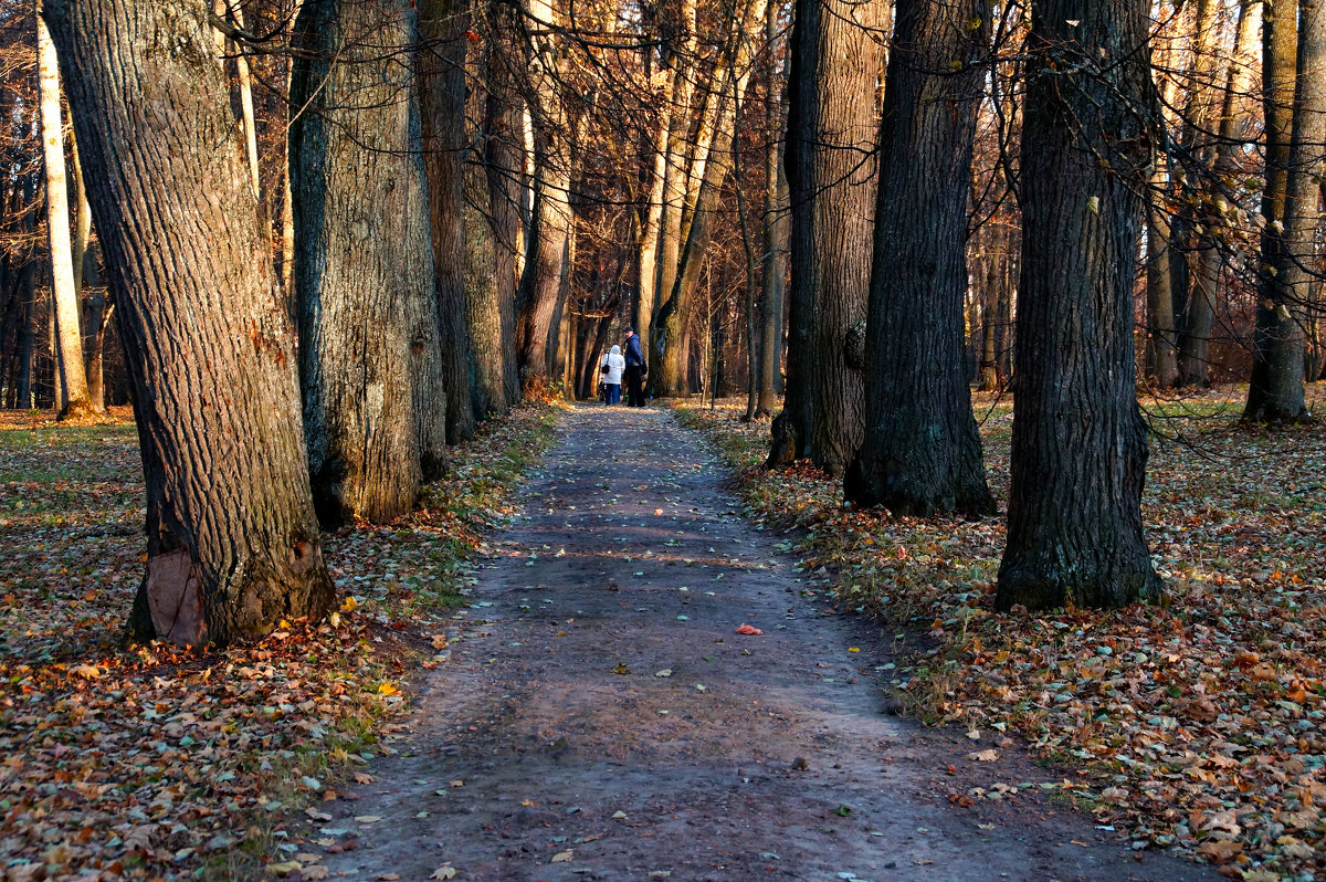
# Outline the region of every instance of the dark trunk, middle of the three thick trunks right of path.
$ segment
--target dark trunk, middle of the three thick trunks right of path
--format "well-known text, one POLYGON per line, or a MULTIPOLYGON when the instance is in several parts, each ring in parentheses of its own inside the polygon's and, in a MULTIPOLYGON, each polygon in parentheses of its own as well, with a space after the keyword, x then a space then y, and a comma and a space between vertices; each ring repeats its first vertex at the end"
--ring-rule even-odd
POLYGON ((963 366, 963 300, 989 19, 984 0, 898 0, 895 8, 879 130, 866 431, 843 491, 895 515, 985 515, 994 500, 963 366))

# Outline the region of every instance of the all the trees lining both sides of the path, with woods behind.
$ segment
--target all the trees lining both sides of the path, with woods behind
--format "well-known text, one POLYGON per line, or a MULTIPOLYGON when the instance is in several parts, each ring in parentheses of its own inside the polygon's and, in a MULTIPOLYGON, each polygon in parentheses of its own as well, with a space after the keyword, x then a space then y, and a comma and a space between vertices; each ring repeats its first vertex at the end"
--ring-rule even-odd
POLYGON ((997 605, 1154 598, 1139 390, 1311 418, 1323 68, 1317 0, 0 0, 0 405, 133 405, 139 637, 324 614, 627 326, 896 515, 994 512, 1010 391, 997 605))

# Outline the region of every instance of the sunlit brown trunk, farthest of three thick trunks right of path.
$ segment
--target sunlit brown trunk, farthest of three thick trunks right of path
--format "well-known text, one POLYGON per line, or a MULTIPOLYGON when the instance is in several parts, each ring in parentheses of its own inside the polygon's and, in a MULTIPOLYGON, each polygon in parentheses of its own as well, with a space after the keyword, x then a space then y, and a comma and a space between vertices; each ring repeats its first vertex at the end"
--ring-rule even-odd
MULTIPOLYGON (((842 475, 865 430, 865 383, 847 363, 866 321, 875 216, 875 86, 887 4, 797 0, 788 81, 792 314, 788 389, 770 462, 809 458, 842 475)), ((778 420, 776 420, 778 422, 778 420)))

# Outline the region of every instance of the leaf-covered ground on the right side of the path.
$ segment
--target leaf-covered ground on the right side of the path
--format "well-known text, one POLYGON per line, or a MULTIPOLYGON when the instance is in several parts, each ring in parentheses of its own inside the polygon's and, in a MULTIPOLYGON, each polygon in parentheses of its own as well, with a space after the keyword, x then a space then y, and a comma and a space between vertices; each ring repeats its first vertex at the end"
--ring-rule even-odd
POLYGON ((887 686, 908 716, 1006 733, 1073 768, 1066 793, 1139 851, 1309 881, 1326 867, 1326 431, 1242 427, 1245 395, 1143 401, 1160 603, 1022 617, 993 610, 1009 399, 975 402, 1000 503, 979 521, 851 511, 813 468, 760 470, 768 422, 741 422, 744 399, 680 418, 716 440, 758 525, 798 528, 785 548, 812 592, 895 635, 887 686))

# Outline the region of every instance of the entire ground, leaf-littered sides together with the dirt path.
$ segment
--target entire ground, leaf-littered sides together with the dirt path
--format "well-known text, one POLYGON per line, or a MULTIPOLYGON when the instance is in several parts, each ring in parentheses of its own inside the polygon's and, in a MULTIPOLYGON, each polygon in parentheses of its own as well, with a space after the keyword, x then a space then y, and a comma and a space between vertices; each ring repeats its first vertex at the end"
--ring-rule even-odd
POLYGON ((204 657, 119 643, 127 414, 0 416, 0 878, 1311 879, 1326 439, 1238 397, 1147 403, 1154 607, 996 615, 1001 519, 846 511, 733 402, 529 471, 532 409, 325 536, 332 622, 204 657))

